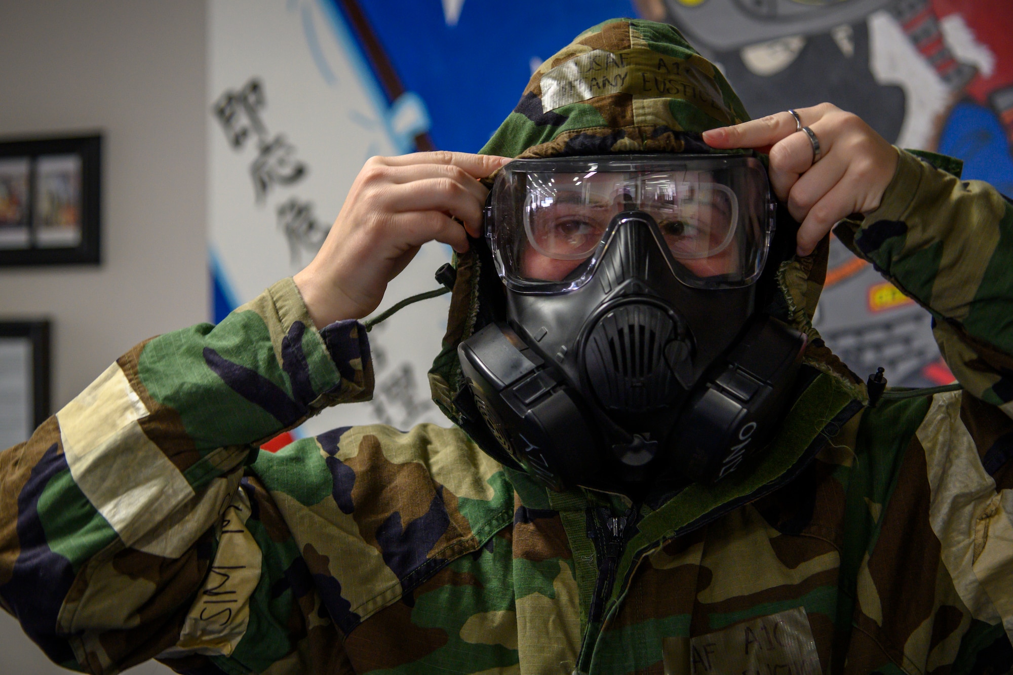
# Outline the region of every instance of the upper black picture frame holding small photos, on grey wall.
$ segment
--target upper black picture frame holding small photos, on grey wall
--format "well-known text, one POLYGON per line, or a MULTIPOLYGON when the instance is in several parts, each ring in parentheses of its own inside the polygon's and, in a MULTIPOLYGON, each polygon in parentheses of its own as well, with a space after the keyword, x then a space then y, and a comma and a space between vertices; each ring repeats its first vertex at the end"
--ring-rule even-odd
POLYGON ((98 265, 100 136, 0 141, 0 266, 98 265))

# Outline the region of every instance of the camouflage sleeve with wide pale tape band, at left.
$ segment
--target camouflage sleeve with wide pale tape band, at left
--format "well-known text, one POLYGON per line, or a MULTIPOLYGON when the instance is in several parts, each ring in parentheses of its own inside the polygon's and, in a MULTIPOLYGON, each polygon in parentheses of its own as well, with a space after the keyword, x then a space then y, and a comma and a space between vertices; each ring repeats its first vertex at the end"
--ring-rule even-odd
POLYGON ((314 329, 291 279, 139 345, 0 452, 0 605, 76 670, 176 646, 258 444, 372 386, 362 326, 314 329))

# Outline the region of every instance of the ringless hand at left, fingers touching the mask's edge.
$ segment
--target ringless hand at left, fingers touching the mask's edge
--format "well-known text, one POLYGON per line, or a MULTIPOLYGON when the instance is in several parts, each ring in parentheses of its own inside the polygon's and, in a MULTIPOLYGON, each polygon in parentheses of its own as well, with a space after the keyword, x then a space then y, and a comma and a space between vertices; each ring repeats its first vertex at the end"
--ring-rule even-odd
POLYGON ((423 243, 468 250, 488 193, 477 179, 508 161, 445 151, 367 160, 320 251, 294 278, 316 327, 376 309, 423 243))

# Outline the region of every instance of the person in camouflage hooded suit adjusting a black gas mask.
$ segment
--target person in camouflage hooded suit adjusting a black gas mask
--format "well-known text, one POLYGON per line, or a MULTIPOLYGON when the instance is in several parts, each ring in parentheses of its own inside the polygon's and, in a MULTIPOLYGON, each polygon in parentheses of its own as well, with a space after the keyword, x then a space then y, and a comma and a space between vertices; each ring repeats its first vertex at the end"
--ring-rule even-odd
POLYGON ((1006 672, 1013 206, 953 173, 595 26, 482 154, 371 159, 306 270, 0 453, 2 605, 103 674, 1006 672), (959 384, 826 348, 835 223, 959 384), (358 319, 434 239, 457 426, 258 453, 369 397, 358 319))

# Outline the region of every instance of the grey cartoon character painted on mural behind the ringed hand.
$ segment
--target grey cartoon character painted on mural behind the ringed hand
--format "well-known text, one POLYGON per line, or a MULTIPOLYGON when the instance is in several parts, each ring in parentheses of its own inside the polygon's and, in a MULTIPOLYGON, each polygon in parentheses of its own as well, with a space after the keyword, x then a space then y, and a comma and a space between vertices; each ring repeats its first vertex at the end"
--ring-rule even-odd
MULTIPOLYGON (((638 0, 721 64, 754 117, 829 100, 1013 194, 1013 6, 1002 0, 638 0)), ((817 327, 859 374, 952 375, 931 318, 833 241, 817 327)))

